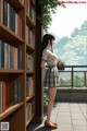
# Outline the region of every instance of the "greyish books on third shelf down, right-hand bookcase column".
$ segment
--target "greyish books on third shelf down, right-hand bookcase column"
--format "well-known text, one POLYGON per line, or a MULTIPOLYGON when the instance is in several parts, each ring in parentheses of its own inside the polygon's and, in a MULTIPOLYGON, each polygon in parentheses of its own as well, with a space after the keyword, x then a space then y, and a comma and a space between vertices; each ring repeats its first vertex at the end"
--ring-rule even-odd
POLYGON ((26 53, 26 69, 30 71, 34 70, 34 58, 28 53, 26 53))

